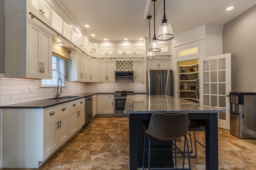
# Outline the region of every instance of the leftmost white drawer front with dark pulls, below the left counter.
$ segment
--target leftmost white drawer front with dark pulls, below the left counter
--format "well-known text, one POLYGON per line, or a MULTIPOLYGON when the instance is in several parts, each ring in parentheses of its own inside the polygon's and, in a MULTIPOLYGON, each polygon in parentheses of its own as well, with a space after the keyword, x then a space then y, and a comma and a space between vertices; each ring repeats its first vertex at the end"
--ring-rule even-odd
POLYGON ((50 109, 45 110, 45 120, 49 120, 55 117, 58 117, 60 114, 68 112, 68 104, 52 107, 50 109))

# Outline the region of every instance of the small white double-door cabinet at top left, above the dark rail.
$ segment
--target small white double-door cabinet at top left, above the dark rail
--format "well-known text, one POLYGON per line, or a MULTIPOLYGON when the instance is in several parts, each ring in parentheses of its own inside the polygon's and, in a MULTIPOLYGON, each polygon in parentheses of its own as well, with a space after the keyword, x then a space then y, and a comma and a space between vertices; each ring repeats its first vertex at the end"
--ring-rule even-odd
POLYGON ((32 14, 46 21, 49 25, 52 23, 52 8, 46 0, 28 0, 28 6, 36 12, 32 12, 32 14))

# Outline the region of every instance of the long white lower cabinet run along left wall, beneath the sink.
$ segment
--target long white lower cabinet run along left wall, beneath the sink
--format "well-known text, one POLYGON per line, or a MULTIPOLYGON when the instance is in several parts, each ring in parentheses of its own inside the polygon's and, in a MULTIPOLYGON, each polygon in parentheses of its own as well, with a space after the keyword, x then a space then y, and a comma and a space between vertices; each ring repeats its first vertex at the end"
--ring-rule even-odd
POLYGON ((47 108, 2 108, 2 167, 38 168, 85 124, 85 98, 47 108))

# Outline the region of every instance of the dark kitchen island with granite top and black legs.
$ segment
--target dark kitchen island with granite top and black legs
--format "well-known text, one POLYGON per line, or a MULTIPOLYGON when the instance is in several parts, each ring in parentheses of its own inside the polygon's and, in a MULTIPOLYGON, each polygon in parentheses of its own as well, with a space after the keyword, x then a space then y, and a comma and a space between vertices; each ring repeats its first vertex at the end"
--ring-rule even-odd
MULTIPOLYGON (((224 109, 198 104, 172 96, 127 96, 124 113, 129 114, 130 170, 142 168, 143 125, 148 123, 152 113, 188 113, 189 119, 204 119, 206 123, 206 170, 218 170, 218 113, 225 112, 226 110, 224 109)), ((163 145, 166 145, 166 143, 163 143, 163 145)), ((169 154, 161 152, 161 154, 155 155, 152 159, 161 161, 160 166, 164 164, 169 166, 170 161, 166 159, 167 155, 169 154)), ((152 166, 159 165, 152 164, 152 166)))

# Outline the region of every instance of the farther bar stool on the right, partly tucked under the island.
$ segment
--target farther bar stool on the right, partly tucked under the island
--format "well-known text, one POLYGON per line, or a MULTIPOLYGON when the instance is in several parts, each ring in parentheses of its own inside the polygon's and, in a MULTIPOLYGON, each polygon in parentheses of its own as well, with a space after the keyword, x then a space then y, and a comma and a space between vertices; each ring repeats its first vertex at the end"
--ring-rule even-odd
POLYGON ((205 131, 205 120, 190 120, 188 125, 188 131, 190 136, 190 144, 191 144, 191 150, 190 153, 193 152, 193 145, 192 145, 192 138, 191 138, 191 131, 194 133, 194 144, 195 144, 195 151, 196 153, 194 155, 190 155, 191 158, 196 158, 197 150, 196 150, 196 143, 200 144, 202 147, 205 148, 205 146, 196 140, 195 131, 205 131))

